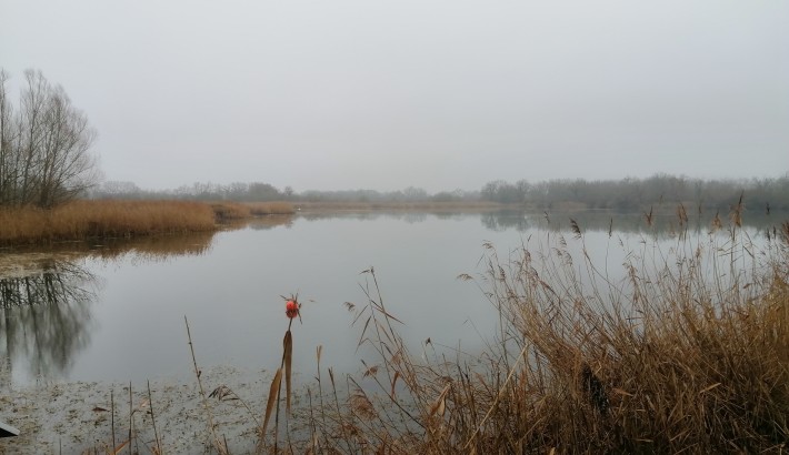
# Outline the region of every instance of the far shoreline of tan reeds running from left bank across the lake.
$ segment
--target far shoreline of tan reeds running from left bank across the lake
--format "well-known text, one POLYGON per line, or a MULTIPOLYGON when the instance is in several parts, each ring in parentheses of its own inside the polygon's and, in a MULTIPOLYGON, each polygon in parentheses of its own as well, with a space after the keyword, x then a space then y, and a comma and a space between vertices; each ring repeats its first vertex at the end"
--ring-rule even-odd
MULTIPOLYGON (((679 205, 692 208, 693 205, 679 205)), ((698 208, 697 208, 698 209, 698 208)), ((651 219, 656 215, 673 216, 677 204, 666 203, 636 211, 615 211, 589 208, 577 202, 552 204, 541 209, 531 204, 499 203, 490 201, 176 201, 176 200, 80 200, 52 210, 37 208, 0 208, 0 252, 9 249, 51 247, 79 242, 110 242, 166 235, 217 233, 239 222, 266 220, 270 216, 296 218, 343 213, 495 213, 529 212, 632 214, 651 219)), ((698 216, 710 218, 710 210, 698 211, 698 216)), ((717 212, 720 218, 729 213, 717 212)), ((750 212, 749 218, 760 218, 761 212, 750 212)), ((780 213, 780 212, 779 212, 780 213)), ((739 214, 739 212, 738 212, 739 214)))

